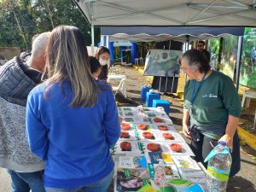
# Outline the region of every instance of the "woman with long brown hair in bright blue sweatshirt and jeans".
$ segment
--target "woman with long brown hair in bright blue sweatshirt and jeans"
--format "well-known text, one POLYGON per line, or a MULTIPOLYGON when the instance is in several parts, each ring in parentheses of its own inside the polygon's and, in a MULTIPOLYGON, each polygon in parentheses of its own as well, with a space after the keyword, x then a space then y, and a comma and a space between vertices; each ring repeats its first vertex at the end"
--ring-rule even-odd
POLYGON ((113 177, 109 148, 120 136, 111 88, 96 81, 84 38, 57 26, 46 53, 47 79, 28 96, 30 148, 46 161, 46 191, 106 191, 113 177))

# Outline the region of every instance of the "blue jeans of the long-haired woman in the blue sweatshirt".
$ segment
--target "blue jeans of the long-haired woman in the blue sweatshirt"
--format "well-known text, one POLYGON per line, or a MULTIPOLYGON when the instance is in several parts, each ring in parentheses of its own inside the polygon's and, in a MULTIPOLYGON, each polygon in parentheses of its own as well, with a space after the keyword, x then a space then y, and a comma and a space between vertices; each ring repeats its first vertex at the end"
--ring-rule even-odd
POLYGON ((113 171, 110 172, 108 176, 102 178, 100 181, 89 185, 84 185, 79 188, 57 189, 46 187, 45 190, 46 192, 106 192, 109 184, 112 181, 112 178, 113 171))

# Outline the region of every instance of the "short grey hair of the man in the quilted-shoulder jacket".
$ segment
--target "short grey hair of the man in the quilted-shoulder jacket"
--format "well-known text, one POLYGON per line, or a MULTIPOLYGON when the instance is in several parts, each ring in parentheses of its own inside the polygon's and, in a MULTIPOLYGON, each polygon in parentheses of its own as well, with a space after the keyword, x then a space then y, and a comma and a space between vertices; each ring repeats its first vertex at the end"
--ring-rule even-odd
POLYGON ((32 42, 32 55, 40 56, 45 53, 46 44, 49 40, 50 32, 43 32, 32 42))

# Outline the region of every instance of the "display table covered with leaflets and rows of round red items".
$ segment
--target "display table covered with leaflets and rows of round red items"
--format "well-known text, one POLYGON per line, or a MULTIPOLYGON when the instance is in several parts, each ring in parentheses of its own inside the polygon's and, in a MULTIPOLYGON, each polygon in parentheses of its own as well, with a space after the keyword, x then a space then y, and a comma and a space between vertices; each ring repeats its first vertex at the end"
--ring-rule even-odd
POLYGON ((147 183, 160 189, 154 184, 159 159, 166 163, 166 183, 188 179, 196 183, 195 188, 205 188, 205 170, 191 158, 195 154, 163 108, 123 107, 119 116, 122 134, 110 148, 115 161, 114 191, 137 191, 147 183))

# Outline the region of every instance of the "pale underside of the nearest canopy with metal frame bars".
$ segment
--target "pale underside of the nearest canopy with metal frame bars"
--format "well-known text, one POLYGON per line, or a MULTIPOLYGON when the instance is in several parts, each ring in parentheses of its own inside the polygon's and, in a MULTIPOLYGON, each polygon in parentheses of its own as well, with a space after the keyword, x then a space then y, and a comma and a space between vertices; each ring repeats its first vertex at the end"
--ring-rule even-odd
POLYGON ((256 26, 255 0, 73 0, 93 26, 256 26))

